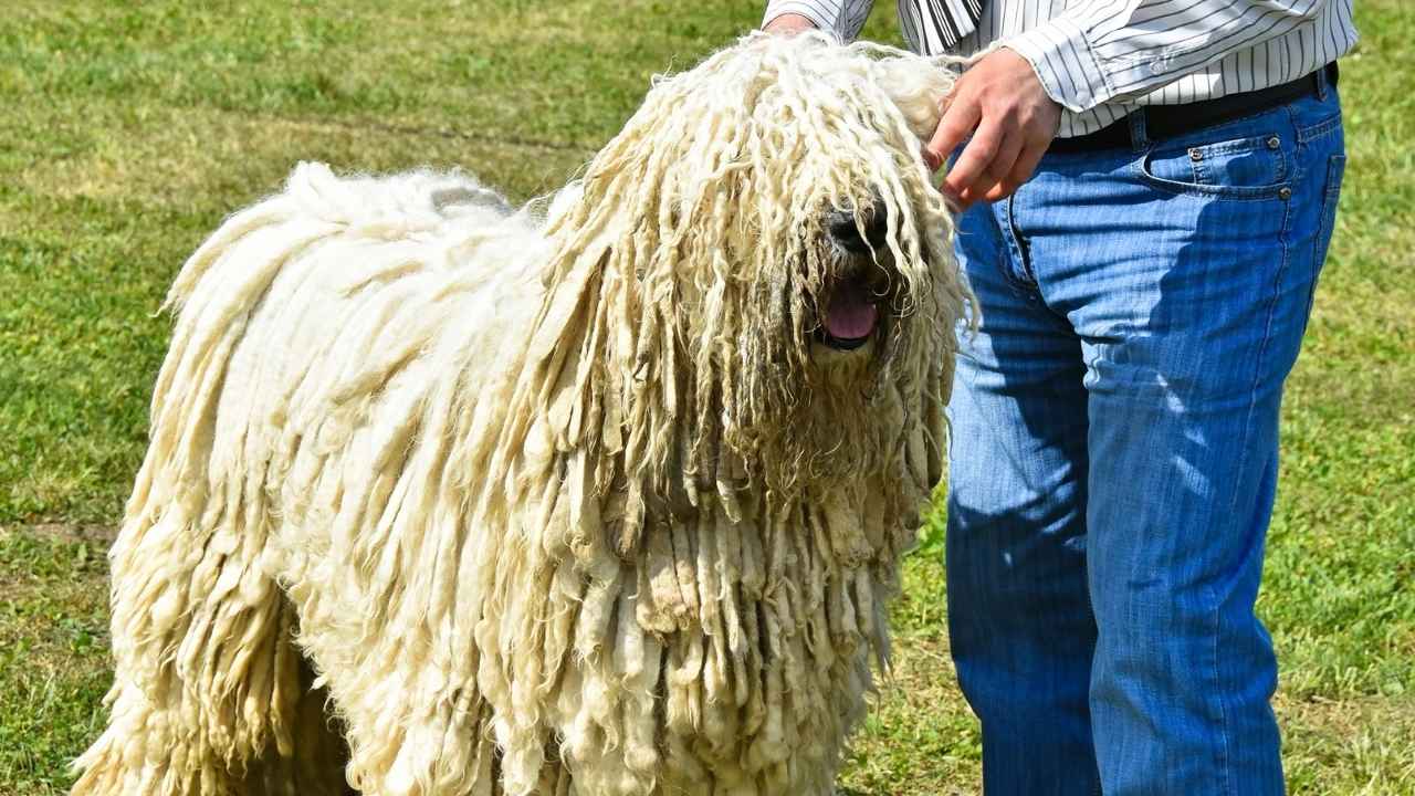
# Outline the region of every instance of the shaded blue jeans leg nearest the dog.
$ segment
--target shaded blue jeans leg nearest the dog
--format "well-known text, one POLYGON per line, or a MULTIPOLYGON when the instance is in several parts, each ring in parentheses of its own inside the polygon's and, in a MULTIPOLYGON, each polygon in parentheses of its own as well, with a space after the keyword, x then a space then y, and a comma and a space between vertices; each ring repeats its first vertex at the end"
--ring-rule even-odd
POLYGON ((1081 341, 1040 302, 1006 205, 965 212, 957 251, 982 323, 961 337, 949 404, 948 622, 983 783, 1092 796, 1081 341))

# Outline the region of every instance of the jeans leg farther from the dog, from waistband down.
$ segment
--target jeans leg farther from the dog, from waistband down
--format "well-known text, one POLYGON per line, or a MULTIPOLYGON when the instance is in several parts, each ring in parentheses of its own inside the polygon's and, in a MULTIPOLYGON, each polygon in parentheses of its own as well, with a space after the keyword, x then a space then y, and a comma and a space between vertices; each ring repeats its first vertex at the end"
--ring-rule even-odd
POLYGON ((1019 197, 1040 293, 1087 368, 1107 796, 1283 792, 1276 661, 1254 602, 1282 384, 1340 186, 1333 113, 1334 98, 1300 101, 1108 170, 1053 166, 1019 197))

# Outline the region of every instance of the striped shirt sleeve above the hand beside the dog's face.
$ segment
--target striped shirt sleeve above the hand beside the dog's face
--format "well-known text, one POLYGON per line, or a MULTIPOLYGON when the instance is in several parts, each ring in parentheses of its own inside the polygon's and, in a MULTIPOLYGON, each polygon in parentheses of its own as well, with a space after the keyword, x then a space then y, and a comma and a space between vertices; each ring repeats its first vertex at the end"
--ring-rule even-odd
POLYGON ((1051 99, 1084 112, 1145 96, 1316 20, 1327 0, 1090 0, 1000 44, 1051 99))

